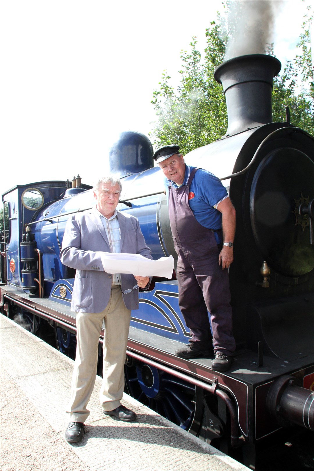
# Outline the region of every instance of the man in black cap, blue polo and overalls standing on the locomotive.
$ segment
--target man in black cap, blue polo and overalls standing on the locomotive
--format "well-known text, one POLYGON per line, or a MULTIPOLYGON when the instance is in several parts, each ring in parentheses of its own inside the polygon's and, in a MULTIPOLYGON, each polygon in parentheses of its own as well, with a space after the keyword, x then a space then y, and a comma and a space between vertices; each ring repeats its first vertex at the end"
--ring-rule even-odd
POLYGON ((191 333, 187 347, 176 355, 189 359, 215 353, 212 369, 226 371, 235 350, 228 277, 235 210, 221 181, 209 171, 186 165, 179 146, 161 147, 153 158, 168 186, 179 307, 191 333))

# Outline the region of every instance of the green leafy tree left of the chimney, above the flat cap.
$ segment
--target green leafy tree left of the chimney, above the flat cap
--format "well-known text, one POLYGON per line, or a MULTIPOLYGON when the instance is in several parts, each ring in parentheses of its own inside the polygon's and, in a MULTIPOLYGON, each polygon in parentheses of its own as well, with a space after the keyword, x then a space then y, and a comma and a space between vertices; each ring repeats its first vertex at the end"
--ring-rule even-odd
POLYGON ((206 38, 204 64, 195 37, 190 50, 181 51, 181 82, 177 93, 169 85, 166 72, 162 74, 160 89, 153 92, 158 121, 150 135, 160 146, 179 143, 183 154, 220 138, 227 128, 223 89, 214 80, 214 71, 223 62, 225 53, 220 26, 211 22, 206 38))

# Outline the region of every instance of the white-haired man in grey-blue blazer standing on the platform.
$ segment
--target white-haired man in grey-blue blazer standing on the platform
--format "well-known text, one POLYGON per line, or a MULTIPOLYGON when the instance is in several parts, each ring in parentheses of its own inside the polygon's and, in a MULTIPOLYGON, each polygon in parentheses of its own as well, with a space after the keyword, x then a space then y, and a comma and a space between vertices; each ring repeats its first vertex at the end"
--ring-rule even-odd
POLYGON ((76 269, 71 310, 76 312, 77 348, 65 438, 82 439, 87 405, 97 373, 98 341, 105 322, 103 383, 99 399, 104 414, 132 421, 136 414, 121 405, 124 362, 131 309, 138 309, 138 286, 148 289, 148 276, 106 273, 103 252, 136 253, 152 259, 137 218, 116 210, 121 182, 105 177, 94 188, 96 206, 68 219, 60 252, 62 263, 76 269))

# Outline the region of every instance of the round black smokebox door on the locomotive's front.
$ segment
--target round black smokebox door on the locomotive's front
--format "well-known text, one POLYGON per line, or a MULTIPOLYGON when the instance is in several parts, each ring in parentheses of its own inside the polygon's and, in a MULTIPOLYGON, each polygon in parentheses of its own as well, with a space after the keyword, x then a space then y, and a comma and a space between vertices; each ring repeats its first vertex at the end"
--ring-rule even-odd
POLYGON ((292 148, 270 152, 260 162, 251 185, 250 220, 255 242, 271 270, 286 277, 314 269, 309 227, 296 225, 300 194, 314 198, 314 163, 292 148))

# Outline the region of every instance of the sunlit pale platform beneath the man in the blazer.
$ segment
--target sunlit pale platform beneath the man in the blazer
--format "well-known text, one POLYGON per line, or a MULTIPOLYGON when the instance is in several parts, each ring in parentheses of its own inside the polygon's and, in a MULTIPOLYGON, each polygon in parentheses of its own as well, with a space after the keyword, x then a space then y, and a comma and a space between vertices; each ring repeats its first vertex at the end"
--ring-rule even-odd
POLYGON ((0 315, 1 471, 247 470, 128 395, 137 422, 105 416, 97 377, 86 435, 64 439, 73 361, 0 315))

